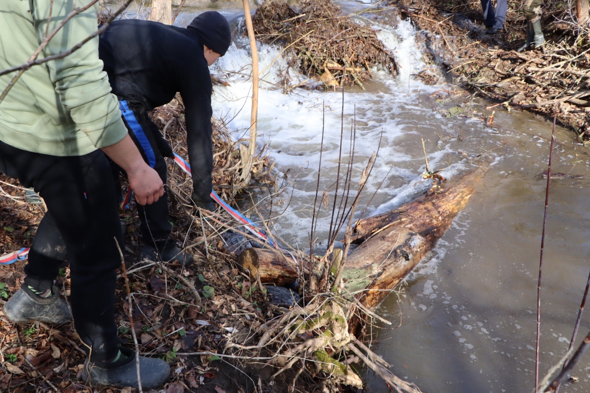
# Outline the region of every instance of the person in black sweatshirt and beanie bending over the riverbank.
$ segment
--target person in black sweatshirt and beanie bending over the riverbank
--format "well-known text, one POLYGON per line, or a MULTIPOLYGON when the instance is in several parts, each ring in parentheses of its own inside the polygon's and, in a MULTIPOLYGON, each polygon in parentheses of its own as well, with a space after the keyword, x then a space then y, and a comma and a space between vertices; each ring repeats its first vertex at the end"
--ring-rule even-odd
MULTIPOLYGON (((100 36, 99 58, 114 94, 119 97, 129 135, 143 158, 166 184, 166 162, 172 148, 162 137, 148 111, 168 104, 180 93, 185 106, 186 141, 191 164, 196 206, 214 210, 211 199, 213 152, 211 141, 211 75, 208 66, 223 56, 231 44, 230 25, 219 12, 196 16, 186 28, 159 22, 124 19, 114 21, 100 36)), ((113 176, 122 200, 119 173, 112 164, 113 176)), ((192 256, 184 254, 169 240, 172 226, 168 219, 168 198, 137 206, 144 246, 141 259, 178 259, 190 265, 192 256)))

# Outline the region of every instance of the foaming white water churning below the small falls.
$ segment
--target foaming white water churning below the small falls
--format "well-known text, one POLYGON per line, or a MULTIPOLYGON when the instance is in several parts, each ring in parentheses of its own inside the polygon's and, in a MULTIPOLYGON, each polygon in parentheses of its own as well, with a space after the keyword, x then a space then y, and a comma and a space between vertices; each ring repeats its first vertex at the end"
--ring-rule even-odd
MULTIPOLYGON (((378 193, 368 206, 367 213, 382 212, 411 199, 416 193, 430 187, 421 182, 420 174, 425 169, 424 158, 412 158, 396 147, 396 140, 408 133, 416 133, 416 124, 403 120, 404 114, 422 114, 419 126, 428 129, 431 120, 440 121, 438 114, 418 107, 418 88, 422 94, 429 94, 436 87, 411 80, 408 94, 408 78, 424 68, 421 54, 416 49, 415 31, 407 21, 399 21, 393 29, 383 25, 372 25, 378 30, 383 44, 394 53, 400 68, 400 77, 395 80, 389 72, 374 70, 377 87, 367 85, 366 91, 348 88, 344 95, 344 120, 342 142, 342 169, 345 172, 350 151, 350 130, 356 114, 355 164, 353 165, 352 189, 358 187, 358 180, 371 154, 381 148, 375 169, 365 189, 365 198, 359 205, 364 209, 371 195, 378 193), (408 169, 408 162, 413 162, 408 169), (389 173, 389 176, 387 174, 389 173), (396 187, 391 179, 404 179, 405 185, 396 187), (364 203, 364 204, 363 204, 364 203)), ((231 87, 215 87, 213 97, 214 113, 224 117, 235 138, 248 136, 251 108, 251 57, 245 38, 237 39, 227 54, 212 67, 212 73, 228 77, 231 87)), ((301 246, 309 245, 311 204, 315 196, 317 168, 320 160, 322 141, 323 111, 325 108, 324 143, 322 153, 322 191, 328 190, 329 212, 332 210, 334 183, 340 156, 340 131, 342 127, 342 92, 294 90, 287 95, 282 91, 285 80, 291 84, 306 80, 293 68, 288 68, 289 58, 280 47, 259 45, 259 69, 261 90, 258 101, 258 144, 270 142, 271 157, 276 160, 277 169, 283 174, 298 172, 293 186, 293 196, 283 216, 276 220, 281 236, 301 246)), ((432 128, 440 126, 432 125, 432 128)), ((418 146, 417 146, 418 148, 418 146)), ((420 147, 421 148, 421 147, 420 147)), ((448 150, 441 148, 428 158, 436 166, 448 150)), ((453 168, 445 176, 453 174, 453 168)), ((342 189, 342 184, 340 185, 342 189)), ((289 190, 291 192, 291 190, 289 190)), ((281 207, 279 206, 278 209, 281 207)), ((317 224, 317 236, 325 239, 330 225, 330 214, 322 207, 317 224)), ((325 243, 324 243, 325 244, 325 243)))

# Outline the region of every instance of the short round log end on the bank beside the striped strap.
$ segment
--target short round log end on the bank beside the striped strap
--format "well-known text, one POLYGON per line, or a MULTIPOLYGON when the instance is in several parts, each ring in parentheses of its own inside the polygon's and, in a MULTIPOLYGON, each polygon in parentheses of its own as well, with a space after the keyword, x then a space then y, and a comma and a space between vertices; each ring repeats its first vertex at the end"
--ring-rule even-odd
POLYGON ((290 288, 299 278, 299 267, 286 251, 245 249, 238 256, 238 264, 250 272, 253 280, 260 275, 263 284, 273 283, 290 288))

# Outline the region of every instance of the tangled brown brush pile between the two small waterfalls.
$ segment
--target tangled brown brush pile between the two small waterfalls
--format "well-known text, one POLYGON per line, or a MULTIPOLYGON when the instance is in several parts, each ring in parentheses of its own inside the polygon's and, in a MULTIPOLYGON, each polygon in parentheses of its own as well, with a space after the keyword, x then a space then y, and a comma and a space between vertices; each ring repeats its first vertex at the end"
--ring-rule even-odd
POLYGON ((257 9, 252 22, 259 41, 284 44, 296 55, 300 72, 329 87, 362 87, 375 66, 395 73, 394 57, 375 31, 342 15, 330 0, 303 0, 298 6, 271 0, 257 9))

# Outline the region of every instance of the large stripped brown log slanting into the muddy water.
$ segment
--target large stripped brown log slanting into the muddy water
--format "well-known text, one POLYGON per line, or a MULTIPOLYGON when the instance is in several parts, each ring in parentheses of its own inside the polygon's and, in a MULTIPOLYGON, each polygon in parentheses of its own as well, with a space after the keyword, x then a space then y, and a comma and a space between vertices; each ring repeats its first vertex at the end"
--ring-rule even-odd
MULTIPOLYGON (((368 239, 346 259, 343 283, 363 306, 373 309, 434 248, 467 204, 487 167, 470 170, 457 181, 444 184, 442 193, 423 195, 356 224, 357 240, 368 239)), ((360 327, 349 321, 351 332, 360 327)))

